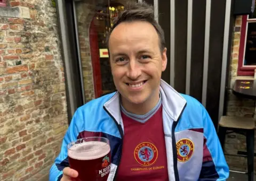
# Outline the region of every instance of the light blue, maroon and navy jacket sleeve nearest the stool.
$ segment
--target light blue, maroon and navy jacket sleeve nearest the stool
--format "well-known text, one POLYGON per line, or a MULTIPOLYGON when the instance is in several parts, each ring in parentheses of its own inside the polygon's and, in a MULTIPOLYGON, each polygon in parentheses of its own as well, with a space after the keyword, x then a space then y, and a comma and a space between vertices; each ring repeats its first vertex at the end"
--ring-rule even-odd
POLYGON ((212 120, 202 106, 204 121, 204 155, 199 181, 222 181, 229 177, 229 168, 212 120))

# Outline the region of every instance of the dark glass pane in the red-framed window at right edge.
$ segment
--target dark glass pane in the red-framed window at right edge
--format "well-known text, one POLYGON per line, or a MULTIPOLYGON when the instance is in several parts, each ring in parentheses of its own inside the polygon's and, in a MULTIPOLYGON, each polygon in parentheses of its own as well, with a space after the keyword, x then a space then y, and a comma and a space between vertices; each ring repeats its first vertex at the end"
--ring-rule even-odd
POLYGON ((244 65, 256 65, 256 22, 248 23, 244 65))

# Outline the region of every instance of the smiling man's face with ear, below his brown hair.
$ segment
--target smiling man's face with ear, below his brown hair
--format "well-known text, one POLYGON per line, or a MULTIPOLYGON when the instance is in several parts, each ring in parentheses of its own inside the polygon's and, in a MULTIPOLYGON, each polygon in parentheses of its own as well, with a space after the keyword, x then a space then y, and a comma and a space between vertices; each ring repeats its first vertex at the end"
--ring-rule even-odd
POLYGON ((144 21, 118 24, 109 38, 110 66, 122 101, 131 104, 159 98, 166 48, 161 52, 153 25, 144 21))

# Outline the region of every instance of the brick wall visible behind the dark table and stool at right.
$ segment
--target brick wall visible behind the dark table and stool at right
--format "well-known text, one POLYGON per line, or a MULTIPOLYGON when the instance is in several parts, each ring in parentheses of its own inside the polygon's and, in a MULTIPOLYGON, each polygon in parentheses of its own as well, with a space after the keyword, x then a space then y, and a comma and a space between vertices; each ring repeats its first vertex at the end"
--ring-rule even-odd
MULTIPOLYGON (((235 21, 234 33, 233 33, 233 51, 231 55, 230 63, 230 75, 229 75, 229 95, 227 104, 227 115, 228 116, 241 116, 241 117, 254 117, 256 118, 255 101, 250 99, 237 98, 232 93, 232 88, 236 79, 246 79, 248 77, 237 76, 238 68, 238 55, 239 55, 239 44, 241 38, 241 25, 242 16, 237 16, 235 21)), ((237 154, 237 151, 246 151, 246 140, 245 136, 239 134, 229 134, 226 136, 225 151, 228 154, 237 154)), ((256 148, 256 139, 255 139, 256 148)), ((247 170, 247 159, 243 157, 226 156, 230 169, 233 170, 247 170)), ((254 160, 256 164, 256 160, 254 160)), ((256 170, 256 168, 255 168, 256 170)))

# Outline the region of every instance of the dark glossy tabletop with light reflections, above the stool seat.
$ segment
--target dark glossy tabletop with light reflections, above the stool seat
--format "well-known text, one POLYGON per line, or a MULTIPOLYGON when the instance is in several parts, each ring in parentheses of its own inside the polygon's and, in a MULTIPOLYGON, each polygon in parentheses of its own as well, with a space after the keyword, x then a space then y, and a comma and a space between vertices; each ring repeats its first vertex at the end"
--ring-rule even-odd
POLYGON ((256 80, 236 80, 233 93, 243 98, 256 100, 256 80))

